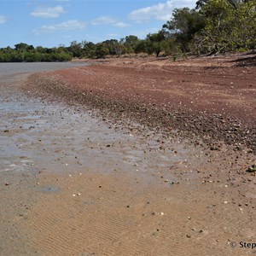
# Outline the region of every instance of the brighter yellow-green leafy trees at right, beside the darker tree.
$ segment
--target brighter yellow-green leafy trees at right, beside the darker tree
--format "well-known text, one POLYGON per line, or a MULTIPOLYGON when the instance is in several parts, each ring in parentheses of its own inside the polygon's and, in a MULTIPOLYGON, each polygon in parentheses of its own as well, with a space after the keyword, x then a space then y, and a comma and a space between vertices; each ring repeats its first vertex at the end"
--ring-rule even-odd
POLYGON ((201 7, 206 26, 195 34, 190 49, 197 54, 254 49, 255 6, 255 1, 208 1, 201 7))

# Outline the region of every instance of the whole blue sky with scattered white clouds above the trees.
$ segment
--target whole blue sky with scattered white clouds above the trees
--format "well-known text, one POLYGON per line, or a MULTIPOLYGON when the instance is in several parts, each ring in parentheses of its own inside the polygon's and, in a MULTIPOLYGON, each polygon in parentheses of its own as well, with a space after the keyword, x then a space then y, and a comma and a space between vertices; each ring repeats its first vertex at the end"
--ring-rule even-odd
POLYGON ((175 8, 195 0, 0 0, 0 48, 69 46, 158 32, 175 8))

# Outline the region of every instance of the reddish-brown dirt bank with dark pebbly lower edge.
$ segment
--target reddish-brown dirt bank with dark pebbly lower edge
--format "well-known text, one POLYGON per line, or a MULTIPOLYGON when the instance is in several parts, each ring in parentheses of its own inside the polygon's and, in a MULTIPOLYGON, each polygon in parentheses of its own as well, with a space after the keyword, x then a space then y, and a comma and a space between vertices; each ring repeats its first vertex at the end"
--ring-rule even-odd
MULTIPOLYGON (((52 92, 104 113, 166 131, 256 150, 255 55, 112 59, 101 65, 32 75, 41 96, 52 92), (42 94, 43 93, 43 94, 42 94)), ((30 85, 30 90, 32 90, 30 85)))

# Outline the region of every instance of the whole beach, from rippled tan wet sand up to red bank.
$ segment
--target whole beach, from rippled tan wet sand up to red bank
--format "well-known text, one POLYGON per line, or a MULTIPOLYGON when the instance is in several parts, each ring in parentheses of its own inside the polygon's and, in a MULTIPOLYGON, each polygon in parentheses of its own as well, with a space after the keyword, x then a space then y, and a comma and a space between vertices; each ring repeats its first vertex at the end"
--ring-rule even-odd
POLYGON ((0 255, 256 253, 255 55, 1 78, 0 255))

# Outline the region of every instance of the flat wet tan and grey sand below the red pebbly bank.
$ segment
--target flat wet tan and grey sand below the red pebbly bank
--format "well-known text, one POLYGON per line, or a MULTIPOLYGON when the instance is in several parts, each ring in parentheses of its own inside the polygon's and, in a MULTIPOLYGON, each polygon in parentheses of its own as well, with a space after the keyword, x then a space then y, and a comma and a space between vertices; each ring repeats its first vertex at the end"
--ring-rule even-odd
POLYGON ((255 252, 239 244, 256 242, 250 150, 38 97, 26 79, 1 84, 0 255, 255 252))

